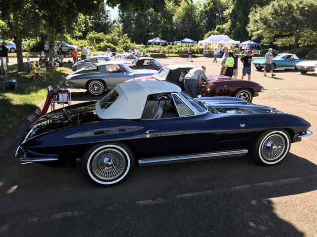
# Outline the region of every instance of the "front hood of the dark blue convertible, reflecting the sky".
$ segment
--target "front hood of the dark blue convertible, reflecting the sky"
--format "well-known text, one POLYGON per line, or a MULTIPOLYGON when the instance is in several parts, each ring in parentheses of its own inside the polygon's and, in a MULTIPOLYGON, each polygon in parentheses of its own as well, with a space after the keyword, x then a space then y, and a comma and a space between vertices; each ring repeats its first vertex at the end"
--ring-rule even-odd
POLYGON ((243 111, 250 114, 282 113, 275 108, 252 104, 236 97, 201 97, 197 100, 202 102, 209 110, 216 110, 221 114, 239 114, 239 112, 241 114, 243 111))

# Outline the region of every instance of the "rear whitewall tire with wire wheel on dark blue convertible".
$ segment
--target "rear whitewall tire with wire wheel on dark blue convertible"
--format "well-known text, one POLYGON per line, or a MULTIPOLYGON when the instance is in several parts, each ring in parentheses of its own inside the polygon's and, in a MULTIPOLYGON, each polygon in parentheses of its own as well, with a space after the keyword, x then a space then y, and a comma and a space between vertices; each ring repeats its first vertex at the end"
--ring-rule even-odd
POLYGON ((83 168, 88 178, 95 184, 104 186, 123 181, 133 165, 132 152, 120 143, 94 146, 83 158, 83 168))

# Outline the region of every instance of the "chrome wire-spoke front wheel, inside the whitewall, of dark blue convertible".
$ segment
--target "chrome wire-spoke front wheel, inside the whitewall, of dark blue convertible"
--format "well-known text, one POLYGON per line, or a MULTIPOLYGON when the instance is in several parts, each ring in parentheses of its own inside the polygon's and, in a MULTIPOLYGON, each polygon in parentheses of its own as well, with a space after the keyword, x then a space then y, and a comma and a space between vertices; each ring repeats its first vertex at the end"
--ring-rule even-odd
POLYGON ((261 146, 261 154, 264 159, 274 161, 279 159, 285 152, 286 140, 280 134, 271 134, 266 137, 261 146))

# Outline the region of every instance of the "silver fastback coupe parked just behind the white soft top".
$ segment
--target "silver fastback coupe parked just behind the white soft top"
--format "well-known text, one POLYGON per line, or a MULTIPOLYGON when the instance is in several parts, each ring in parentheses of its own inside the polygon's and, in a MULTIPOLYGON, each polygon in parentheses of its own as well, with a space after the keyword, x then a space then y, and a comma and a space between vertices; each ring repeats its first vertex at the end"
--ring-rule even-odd
POLYGON ((123 61, 107 61, 71 72, 63 82, 66 88, 87 89, 92 95, 101 95, 116 84, 129 79, 151 76, 156 72, 150 69, 133 70, 123 61))

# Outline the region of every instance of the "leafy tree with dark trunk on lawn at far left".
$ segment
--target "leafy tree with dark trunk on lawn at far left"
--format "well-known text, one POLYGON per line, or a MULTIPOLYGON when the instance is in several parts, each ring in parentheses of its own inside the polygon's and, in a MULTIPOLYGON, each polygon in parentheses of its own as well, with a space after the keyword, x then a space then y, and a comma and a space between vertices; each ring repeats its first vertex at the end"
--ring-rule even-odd
POLYGON ((16 44, 18 71, 23 71, 22 40, 34 37, 42 23, 32 0, 2 0, 0 4, 1 37, 16 44))

